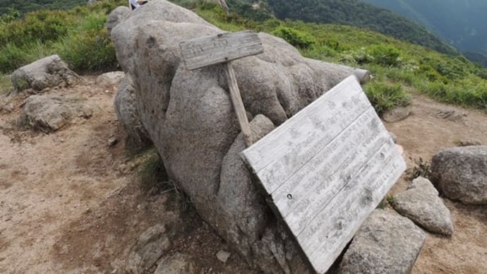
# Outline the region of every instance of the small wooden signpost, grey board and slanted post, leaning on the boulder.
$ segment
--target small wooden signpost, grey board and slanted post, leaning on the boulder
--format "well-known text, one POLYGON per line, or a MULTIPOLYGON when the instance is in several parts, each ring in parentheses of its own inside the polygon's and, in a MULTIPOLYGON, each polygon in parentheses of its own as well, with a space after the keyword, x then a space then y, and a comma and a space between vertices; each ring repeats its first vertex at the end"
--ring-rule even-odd
POLYGON ((247 146, 252 145, 251 127, 248 124, 244 102, 236 83, 232 60, 264 52, 257 33, 250 31, 226 32, 209 37, 197 38, 179 44, 184 64, 188 70, 224 63, 227 82, 236 118, 247 146))

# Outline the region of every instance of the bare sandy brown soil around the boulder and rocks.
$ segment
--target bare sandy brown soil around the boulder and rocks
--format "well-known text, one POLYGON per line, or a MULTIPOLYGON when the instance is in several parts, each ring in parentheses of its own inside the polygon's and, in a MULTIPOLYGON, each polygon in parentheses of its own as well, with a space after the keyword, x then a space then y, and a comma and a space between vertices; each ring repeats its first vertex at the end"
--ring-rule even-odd
MULTIPOLYGON (((144 165, 124 150, 113 111, 113 88, 94 79, 49 93, 77 93, 102 109, 56 133, 19 128, 23 98, 0 100, 0 273, 121 273, 128 252, 148 227, 172 227, 172 252, 195 263, 197 273, 253 273, 174 191, 145 191, 137 169, 144 165), (108 91, 108 92, 106 92, 108 91), (109 138, 119 140, 108 145, 109 138)), ((487 115, 415 96, 412 114, 386 124, 411 159, 431 160, 465 138, 487 144, 487 115), (450 121, 438 109, 464 113, 450 121)), ((391 194, 407 187, 404 176, 391 194)), ((486 273, 487 207, 445 200, 455 234, 428 234, 413 273, 486 273)))

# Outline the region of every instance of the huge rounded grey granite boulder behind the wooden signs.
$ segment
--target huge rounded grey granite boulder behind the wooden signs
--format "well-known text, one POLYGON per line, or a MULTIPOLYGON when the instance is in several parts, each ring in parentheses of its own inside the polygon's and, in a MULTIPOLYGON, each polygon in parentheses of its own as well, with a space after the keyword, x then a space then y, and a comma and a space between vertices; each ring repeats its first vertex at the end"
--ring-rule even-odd
MULTIPOLYGON (((112 30, 116 56, 133 79, 136 109, 169 178, 198 213, 265 273, 306 273, 293 237, 255 187, 222 65, 188 71, 179 43, 222 32, 195 13, 152 0, 112 30)), ((254 138, 347 76, 368 73, 306 59, 284 40, 258 34, 265 52, 233 62, 254 138)))

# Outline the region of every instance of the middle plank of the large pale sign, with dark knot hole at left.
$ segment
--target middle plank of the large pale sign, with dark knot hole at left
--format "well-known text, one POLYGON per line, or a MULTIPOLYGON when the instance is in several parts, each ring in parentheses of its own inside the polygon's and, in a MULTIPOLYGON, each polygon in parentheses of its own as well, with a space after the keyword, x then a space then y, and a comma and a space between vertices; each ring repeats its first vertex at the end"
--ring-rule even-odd
POLYGON ((306 216, 313 215, 314 208, 322 207, 335 196, 336 191, 330 187, 336 189, 338 185, 346 184, 390 138, 387 132, 378 130, 378 126, 381 125, 371 107, 272 193, 284 218, 294 210, 292 218, 296 220, 289 220, 289 227, 301 231, 299 227, 307 225, 303 223, 308 220, 306 216))

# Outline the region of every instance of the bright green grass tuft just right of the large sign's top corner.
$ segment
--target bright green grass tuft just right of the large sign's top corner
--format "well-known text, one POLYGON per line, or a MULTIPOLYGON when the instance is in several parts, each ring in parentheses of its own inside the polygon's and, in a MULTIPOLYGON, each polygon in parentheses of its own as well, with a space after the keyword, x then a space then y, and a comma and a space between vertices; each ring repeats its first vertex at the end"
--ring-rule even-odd
POLYGON ((383 114, 387 109, 405 107, 411 103, 411 97, 402 90, 402 86, 399 84, 368 83, 366 94, 378 114, 383 114))

